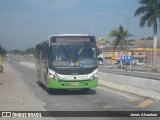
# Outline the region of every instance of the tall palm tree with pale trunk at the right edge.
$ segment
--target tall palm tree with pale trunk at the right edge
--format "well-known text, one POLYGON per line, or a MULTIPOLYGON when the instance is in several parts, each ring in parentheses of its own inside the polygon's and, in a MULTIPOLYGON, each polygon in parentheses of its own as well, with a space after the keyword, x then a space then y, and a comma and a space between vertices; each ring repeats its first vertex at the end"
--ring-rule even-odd
POLYGON ((156 71, 156 48, 157 48, 157 26, 158 18, 160 17, 160 1, 159 0, 139 0, 142 4, 135 11, 135 16, 141 16, 140 27, 144 27, 147 24, 149 27, 153 26, 153 70, 156 71))

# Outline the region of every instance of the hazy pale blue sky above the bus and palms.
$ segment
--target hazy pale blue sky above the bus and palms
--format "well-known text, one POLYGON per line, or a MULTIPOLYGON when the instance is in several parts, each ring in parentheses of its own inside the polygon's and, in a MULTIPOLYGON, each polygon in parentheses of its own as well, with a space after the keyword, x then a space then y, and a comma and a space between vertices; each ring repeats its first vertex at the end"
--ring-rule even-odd
POLYGON ((127 29, 127 20, 133 39, 153 36, 153 29, 140 28, 140 17, 134 17, 140 6, 138 0, 0 0, 0 43, 25 50, 54 34, 108 38, 120 25, 127 29))

